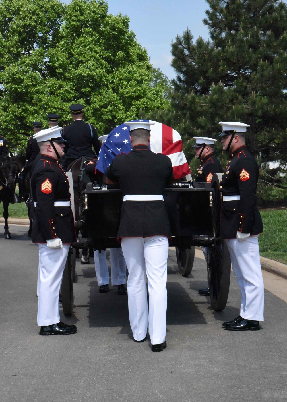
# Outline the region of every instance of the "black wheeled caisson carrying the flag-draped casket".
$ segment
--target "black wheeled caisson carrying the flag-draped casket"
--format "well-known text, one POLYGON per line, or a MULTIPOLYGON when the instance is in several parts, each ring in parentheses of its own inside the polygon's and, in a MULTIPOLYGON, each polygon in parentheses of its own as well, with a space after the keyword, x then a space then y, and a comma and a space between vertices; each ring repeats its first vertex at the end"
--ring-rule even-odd
MULTIPOLYGON (((230 282, 230 256, 220 239, 219 180, 214 176, 211 183, 174 183, 166 188, 164 194, 172 232, 170 246, 176 247, 178 270, 181 275, 188 276, 193 267, 195 246, 207 247, 211 306, 217 311, 225 308, 230 282)), ((116 237, 123 199, 121 190, 116 185, 106 184, 105 180, 104 184, 98 185, 96 180, 88 181, 85 176, 79 177, 78 187, 81 224, 86 237, 79 239, 73 247, 88 246, 97 250, 120 247, 116 237)), ((75 265, 73 258, 71 248, 62 283, 62 296, 64 293, 67 300, 63 304, 65 314, 72 313, 70 271, 75 265)))

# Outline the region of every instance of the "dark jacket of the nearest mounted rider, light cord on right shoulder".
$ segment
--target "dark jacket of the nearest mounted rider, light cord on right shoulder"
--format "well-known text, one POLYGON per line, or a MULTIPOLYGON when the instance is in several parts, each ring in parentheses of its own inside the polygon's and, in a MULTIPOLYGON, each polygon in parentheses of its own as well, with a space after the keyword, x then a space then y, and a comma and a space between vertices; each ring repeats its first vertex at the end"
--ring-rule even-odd
POLYGON ((82 120, 75 120, 63 128, 62 137, 68 141, 64 148, 65 159, 77 159, 81 156, 94 158, 95 154, 92 151, 92 145, 98 155, 101 144, 94 126, 92 124, 90 126, 82 120))

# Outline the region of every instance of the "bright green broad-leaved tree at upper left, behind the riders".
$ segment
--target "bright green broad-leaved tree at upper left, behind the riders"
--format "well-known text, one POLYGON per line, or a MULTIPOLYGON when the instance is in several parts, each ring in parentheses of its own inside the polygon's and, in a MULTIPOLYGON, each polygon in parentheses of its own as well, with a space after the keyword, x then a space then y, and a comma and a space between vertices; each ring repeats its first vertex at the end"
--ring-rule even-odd
POLYGON ((47 113, 70 122, 71 103, 86 106, 101 134, 167 104, 129 18, 108 14, 105 1, 2 0, 0 45, 0 126, 11 148, 25 148, 31 122, 47 113))

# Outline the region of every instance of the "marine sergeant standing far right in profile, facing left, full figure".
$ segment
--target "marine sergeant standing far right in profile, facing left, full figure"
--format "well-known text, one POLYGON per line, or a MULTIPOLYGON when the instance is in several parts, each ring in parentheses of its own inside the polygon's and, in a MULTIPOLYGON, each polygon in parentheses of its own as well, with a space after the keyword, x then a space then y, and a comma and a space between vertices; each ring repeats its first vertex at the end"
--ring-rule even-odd
POLYGON ((259 168, 245 144, 246 127, 239 122, 219 122, 221 143, 229 153, 219 190, 222 195, 220 230, 231 256, 241 291, 240 316, 223 326, 228 330, 259 330, 263 321, 264 284, 258 235, 263 230, 256 207, 259 168))

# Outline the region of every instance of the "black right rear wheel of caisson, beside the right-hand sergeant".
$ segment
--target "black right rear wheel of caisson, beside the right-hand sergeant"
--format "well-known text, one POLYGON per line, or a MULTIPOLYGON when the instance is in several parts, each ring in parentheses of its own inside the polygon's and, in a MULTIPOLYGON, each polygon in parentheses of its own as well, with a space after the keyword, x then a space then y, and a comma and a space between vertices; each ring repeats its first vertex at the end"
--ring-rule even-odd
POLYGON ((225 308, 230 285, 230 254, 227 245, 220 239, 220 209, 221 195, 219 182, 222 174, 214 174, 211 186, 213 188, 213 244, 207 247, 207 273, 210 291, 211 307, 215 311, 225 308))

